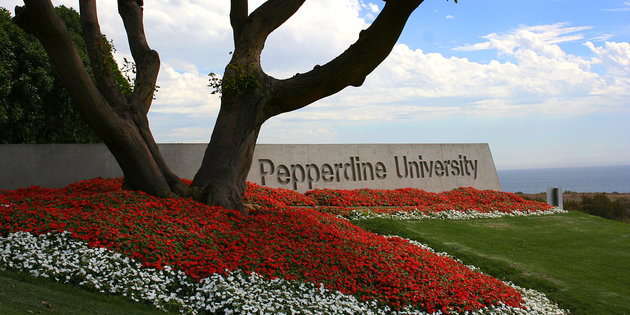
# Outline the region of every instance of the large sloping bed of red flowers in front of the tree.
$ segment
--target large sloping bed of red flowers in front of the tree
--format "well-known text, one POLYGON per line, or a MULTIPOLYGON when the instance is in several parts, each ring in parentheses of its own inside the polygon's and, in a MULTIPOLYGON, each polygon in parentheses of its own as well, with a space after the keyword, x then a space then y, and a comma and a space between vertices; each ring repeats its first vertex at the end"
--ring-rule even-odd
POLYGON ((58 190, 0 192, 0 204, 8 205, 0 207, 0 233, 67 230, 90 246, 124 253, 145 266, 168 264, 195 279, 241 269, 323 283, 394 308, 465 311, 522 302, 518 292, 490 276, 313 209, 278 206, 243 217, 120 186, 120 180, 95 179, 58 190))

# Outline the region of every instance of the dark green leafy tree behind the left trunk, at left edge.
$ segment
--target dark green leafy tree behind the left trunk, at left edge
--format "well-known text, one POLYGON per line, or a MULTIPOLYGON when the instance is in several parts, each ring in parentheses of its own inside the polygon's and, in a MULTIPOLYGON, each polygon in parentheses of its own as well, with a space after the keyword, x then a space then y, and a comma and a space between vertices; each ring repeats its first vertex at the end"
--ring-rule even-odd
MULTIPOLYGON (((89 68, 79 13, 62 18, 89 68)), ((70 95, 39 41, 11 23, 0 8, 0 143, 96 143, 100 139, 74 110, 70 95)))

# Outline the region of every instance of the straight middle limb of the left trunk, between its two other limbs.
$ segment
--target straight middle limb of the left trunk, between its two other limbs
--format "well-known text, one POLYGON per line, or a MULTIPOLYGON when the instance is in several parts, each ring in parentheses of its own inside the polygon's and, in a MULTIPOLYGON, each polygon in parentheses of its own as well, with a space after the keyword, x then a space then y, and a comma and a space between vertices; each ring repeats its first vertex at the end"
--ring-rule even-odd
POLYGON ((116 84, 112 67, 115 62, 111 57, 110 49, 101 34, 96 14, 95 0, 81 0, 79 2, 81 11, 81 28, 83 29, 83 39, 87 47, 88 56, 92 65, 92 73, 96 80, 96 85, 109 104, 114 108, 120 108, 126 104, 126 99, 116 84))

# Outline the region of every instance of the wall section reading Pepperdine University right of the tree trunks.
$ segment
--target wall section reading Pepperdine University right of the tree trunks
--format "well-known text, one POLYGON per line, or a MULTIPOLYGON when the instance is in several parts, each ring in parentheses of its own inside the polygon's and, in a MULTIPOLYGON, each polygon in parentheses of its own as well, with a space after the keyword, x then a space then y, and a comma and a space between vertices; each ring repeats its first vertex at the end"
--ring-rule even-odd
POLYGON ((488 144, 267 144, 256 147, 248 180, 305 192, 317 188, 440 192, 501 190, 488 144))

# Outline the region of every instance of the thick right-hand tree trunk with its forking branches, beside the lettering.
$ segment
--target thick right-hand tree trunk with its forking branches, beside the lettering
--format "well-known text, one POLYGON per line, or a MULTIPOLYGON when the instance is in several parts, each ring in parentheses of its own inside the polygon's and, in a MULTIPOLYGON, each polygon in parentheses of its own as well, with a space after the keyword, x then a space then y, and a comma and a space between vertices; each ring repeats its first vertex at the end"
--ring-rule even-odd
POLYGON ((221 110, 193 186, 204 201, 242 209, 260 126, 267 119, 307 106, 347 86, 360 86, 391 52, 411 13, 422 0, 389 0, 359 39, 324 66, 277 80, 262 72, 260 55, 269 34, 289 19, 304 0, 269 0, 245 17, 247 2, 232 0, 230 19, 235 50, 223 77, 221 110), (256 88, 229 91, 226 82, 247 79, 235 69, 251 67, 256 88), (239 94, 240 93, 240 94, 239 94))

